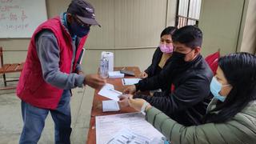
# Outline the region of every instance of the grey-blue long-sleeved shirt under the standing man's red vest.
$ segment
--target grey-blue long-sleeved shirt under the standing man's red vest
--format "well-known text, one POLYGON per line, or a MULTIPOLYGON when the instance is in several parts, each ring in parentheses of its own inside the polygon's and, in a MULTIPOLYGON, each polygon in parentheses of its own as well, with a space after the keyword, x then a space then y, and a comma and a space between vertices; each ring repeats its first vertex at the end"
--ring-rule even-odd
MULTIPOLYGON (((61 21, 62 24, 65 26, 63 14, 61 14, 61 21)), ((69 30, 67 28, 66 30, 69 33, 69 30)), ((76 41, 78 41, 78 38, 75 38, 72 42, 74 53, 70 72, 72 72, 72 67, 74 65, 74 58, 77 47, 76 41)), ((66 74, 60 71, 60 51, 57 38, 52 31, 42 30, 35 39, 35 45, 38 58, 42 66, 42 76, 47 83, 50 83, 50 85, 52 86, 57 86, 58 88, 61 88, 63 90, 70 90, 77 86, 82 87, 85 78, 84 75, 78 75, 76 73, 66 74)), ((82 68, 79 64, 77 64, 75 71, 82 71, 82 68)))

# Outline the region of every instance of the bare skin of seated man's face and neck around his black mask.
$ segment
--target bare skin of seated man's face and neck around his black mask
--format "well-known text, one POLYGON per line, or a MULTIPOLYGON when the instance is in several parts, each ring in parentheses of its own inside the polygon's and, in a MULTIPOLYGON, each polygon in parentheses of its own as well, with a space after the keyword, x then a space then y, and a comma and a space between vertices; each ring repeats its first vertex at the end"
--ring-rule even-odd
POLYGON ((194 49, 192 49, 191 47, 188 47, 180 42, 174 42, 174 51, 181 54, 186 54, 184 58, 185 62, 193 61, 194 58, 200 53, 200 50, 201 49, 199 46, 196 46, 194 49))

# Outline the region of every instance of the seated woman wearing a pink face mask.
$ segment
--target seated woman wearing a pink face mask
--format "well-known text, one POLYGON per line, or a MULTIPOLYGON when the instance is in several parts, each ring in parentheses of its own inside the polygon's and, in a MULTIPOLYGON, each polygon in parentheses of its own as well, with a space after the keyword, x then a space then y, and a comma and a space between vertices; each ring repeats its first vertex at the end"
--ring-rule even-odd
POLYGON ((174 46, 172 41, 172 35, 174 31, 177 30, 174 26, 166 27, 165 30, 162 30, 160 35, 160 45, 157 50, 154 51, 154 56, 152 59, 151 65, 140 74, 140 78, 148 78, 160 73, 162 68, 168 63, 174 46))

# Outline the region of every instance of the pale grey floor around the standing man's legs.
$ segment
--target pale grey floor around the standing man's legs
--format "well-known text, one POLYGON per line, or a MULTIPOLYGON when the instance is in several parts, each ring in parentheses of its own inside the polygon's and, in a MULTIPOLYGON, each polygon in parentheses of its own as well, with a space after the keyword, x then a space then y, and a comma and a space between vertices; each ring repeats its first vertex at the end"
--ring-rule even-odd
MULTIPOLYGON (((0 82, 0 86, 2 83, 0 82)), ((93 94, 94 90, 88 86, 86 86, 86 89, 77 88, 73 90, 70 102, 72 114, 71 127, 73 129, 71 143, 86 143, 93 94)), ((20 102, 20 99, 15 94, 15 90, 0 91, 0 144, 18 143, 22 131, 20 102)), ((54 122, 50 114, 46 118, 46 126, 38 143, 54 143, 54 122)))

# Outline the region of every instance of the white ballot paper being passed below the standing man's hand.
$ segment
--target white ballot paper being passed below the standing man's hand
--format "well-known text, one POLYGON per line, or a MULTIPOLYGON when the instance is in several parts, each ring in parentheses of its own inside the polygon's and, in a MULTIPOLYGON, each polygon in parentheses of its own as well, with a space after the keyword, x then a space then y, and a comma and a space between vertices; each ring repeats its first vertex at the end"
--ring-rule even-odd
POLYGON ((114 90, 114 85, 111 85, 110 83, 106 83, 106 85, 102 87, 102 90, 100 90, 98 94, 102 95, 103 97, 110 98, 115 101, 119 101, 118 96, 121 95, 122 92, 118 90, 114 90))

